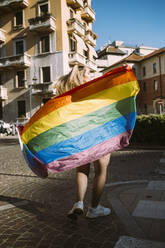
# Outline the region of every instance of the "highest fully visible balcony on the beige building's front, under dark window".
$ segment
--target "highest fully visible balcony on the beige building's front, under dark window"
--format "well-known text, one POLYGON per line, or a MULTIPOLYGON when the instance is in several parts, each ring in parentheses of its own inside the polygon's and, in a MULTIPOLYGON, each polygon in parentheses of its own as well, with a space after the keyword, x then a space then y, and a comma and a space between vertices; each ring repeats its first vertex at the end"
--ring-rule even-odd
POLYGON ((29 19, 30 31, 50 33, 56 30, 56 19, 51 14, 29 19))

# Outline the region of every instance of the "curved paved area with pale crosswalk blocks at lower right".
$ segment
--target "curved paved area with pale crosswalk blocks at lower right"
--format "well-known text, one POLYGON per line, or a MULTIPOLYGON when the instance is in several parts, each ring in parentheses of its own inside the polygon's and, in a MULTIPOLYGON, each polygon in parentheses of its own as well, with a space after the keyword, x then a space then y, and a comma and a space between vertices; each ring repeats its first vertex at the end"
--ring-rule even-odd
POLYGON ((143 180, 107 187, 109 202, 127 232, 115 248, 164 248, 165 181, 143 180))

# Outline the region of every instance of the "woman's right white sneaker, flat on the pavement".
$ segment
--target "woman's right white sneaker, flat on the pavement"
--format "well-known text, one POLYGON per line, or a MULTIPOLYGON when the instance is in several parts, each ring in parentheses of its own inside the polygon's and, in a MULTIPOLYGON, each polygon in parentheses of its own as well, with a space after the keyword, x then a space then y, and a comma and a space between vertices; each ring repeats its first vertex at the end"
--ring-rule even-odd
POLYGON ((101 205, 98 205, 96 208, 89 207, 86 214, 87 218, 97 218, 100 216, 107 216, 111 213, 110 208, 105 208, 101 205))

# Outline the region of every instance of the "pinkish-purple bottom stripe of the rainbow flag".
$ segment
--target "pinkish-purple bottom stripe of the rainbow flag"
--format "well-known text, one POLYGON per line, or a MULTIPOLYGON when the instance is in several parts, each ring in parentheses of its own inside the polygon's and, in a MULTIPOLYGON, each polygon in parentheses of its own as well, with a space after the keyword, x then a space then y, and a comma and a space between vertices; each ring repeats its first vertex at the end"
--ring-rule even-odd
POLYGON ((57 173, 96 161, 113 151, 128 146, 132 132, 133 130, 124 132, 85 151, 53 161, 47 165, 47 169, 50 172, 57 173))

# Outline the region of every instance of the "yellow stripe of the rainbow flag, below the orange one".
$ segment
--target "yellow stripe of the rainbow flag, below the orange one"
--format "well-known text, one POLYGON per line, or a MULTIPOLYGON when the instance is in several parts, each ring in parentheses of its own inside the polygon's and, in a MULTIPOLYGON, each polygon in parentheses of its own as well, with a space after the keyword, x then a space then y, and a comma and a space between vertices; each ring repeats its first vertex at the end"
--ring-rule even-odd
POLYGON ((34 122, 22 134, 21 139, 25 144, 27 144, 31 139, 51 128, 78 119, 83 115, 89 114, 125 98, 135 96, 138 91, 139 86, 137 81, 132 81, 103 90, 81 99, 80 101, 67 104, 34 122))

